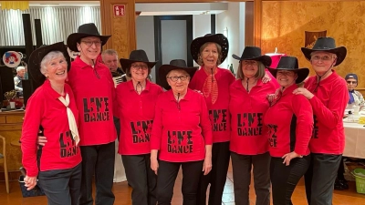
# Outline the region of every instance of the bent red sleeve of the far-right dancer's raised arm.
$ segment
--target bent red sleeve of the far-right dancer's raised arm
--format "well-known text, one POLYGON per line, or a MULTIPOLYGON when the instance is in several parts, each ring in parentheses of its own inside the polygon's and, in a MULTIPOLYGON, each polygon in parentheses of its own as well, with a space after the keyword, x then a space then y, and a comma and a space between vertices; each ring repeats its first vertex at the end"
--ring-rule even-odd
POLYGON ((343 112, 348 101, 348 89, 342 84, 338 84, 332 88, 328 106, 323 105, 320 99, 316 96, 309 100, 318 121, 326 122, 323 123, 323 125, 328 128, 337 127, 339 120, 342 120, 343 112))

